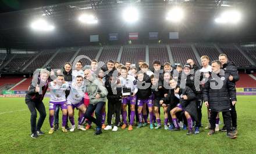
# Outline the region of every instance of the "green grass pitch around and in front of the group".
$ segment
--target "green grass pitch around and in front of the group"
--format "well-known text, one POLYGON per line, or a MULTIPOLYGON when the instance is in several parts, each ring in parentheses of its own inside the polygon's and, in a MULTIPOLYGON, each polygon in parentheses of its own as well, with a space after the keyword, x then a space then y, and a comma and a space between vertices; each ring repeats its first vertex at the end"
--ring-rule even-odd
MULTIPOLYGON (((225 133, 208 136, 208 130, 203 128, 200 134, 188 136, 185 130, 150 130, 149 126, 133 131, 103 130, 98 136, 93 135, 93 129, 68 133, 58 130, 50 135, 48 98, 44 100, 47 118, 41 129, 45 134, 33 139, 30 138, 30 112, 24 98, 0 98, 0 153, 256 153, 256 96, 237 99, 239 134, 232 140, 225 133)), ((76 124, 77 113, 75 111, 76 124)), ((205 106, 202 113, 202 124, 206 126, 205 106)))

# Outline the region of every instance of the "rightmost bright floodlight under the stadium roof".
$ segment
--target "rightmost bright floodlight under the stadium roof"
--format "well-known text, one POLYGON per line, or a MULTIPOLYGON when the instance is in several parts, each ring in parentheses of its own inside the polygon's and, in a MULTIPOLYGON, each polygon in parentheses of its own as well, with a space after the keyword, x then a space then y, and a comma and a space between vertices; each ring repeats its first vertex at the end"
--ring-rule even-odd
POLYGON ((220 17, 215 19, 218 24, 237 24, 241 20, 241 13, 237 10, 223 12, 220 17))

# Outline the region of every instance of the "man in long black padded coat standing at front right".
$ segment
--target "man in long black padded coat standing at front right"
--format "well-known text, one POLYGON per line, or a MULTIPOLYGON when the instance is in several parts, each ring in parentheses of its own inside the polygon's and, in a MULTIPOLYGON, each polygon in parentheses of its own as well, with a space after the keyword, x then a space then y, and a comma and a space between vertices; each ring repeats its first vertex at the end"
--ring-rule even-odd
POLYGON ((202 96, 205 105, 211 111, 211 129, 208 135, 215 133, 216 116, 218 112, 222 112, 227 127, 227 137, 236 138, 236 135, 232 133, 229 103, 229 98, 231 98, 232 104, 236 103, 236 87, 233 82, 230 82, 229 74, 221 70, 221 62, 212 62, 212 75, 204 85, 202 96))

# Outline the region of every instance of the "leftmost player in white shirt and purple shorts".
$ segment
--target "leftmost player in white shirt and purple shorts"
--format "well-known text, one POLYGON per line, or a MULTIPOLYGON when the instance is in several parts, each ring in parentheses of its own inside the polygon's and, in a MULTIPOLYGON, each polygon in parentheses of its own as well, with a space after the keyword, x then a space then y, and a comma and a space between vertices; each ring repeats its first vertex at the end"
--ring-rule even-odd
POLYGON ((54 111, 56 109, 56 105, 59 105, 62 109, 62 131, 66 133, 65 129, 66 120, 67 120, 67 104, 65 91, 69 87, 69 84, 65 82, 63 75, 57 75, 57 78, 49 83, 49 89, 51 98, 49 102, 49 123, 51 129, 49 130, 49 134, 54 133, 54 111))

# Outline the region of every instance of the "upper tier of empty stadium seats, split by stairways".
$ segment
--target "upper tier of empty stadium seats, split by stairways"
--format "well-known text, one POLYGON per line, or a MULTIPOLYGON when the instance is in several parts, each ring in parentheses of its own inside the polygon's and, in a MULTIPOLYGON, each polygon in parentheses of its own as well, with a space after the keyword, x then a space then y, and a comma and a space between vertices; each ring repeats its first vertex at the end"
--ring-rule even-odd
MULTIPOLYGON (((194 43, 195 49, 197 49, 198 55, 201 57, 203 55, 209 56, 210 60, 218 60, 219 52, 218 50, 209 43, 194 43)), ((251 63, 244 57, 239 50, 233 45, 218 45, 219 48, 226 53, 230 61, 233 61, 237 67, 250 67, 251 63)), ((248 54, 253 61, 256 61, 256 47, 241 47, 245 54, 248 54)), ((118 59, 120 46, 104 46, 101 54, 98 57, 98 61, 103 61, 106 63, 108 60, 116 61, 118 59)), ((193 49, 189 44, 186 43, 173 43, 170 45, 170 50, 172 52, 173 60, 176 64, 184 65, 188 58, 192 58, 195 64, 200 64, 195 57, 193 49)), ((2 72, 19 72, 27 64, 33 60, 29 66, 24 69, 24 73, 33 72, 37 68, 43 67, 47 61, 54 55, 55 50, 45 50, 42 51, 35 60, 33 58, 36 54, 6 54, 0 53, 0 68, 2 72), (10 58, 12 58, 11 61, 10 58), (9 63, 8 63, 9 61, 9 63), (8 64, 7 64, 8 63, 8 64), (7 65, 5 65, 7 64, 7 65)), ((99 52, 99 47, 82 47, 77 56, 85 55, 95 59, 99 52)), ((150 65, 154 60, 159 60, 161 63, 170 62, 168 51, 165 45, 149 45, 149 63, 150 65), (157 58, 156 58, 157 57, 157 58)), ((62 68, 65 62, 71 62, 75 51, 61 51, 49 62, 52 68, 62 68)), ((137 64, 139 60, 145 61, 145 45, 126 45, 123 47, 123 52, 120 58, 120 63, 125 64, 126 61, 131 61, 131 63, 137 64)), ((81 59, 83 65, 90 64, 89 60, 86 58, 81 59)), ((152 68, 152 66, 150 66, 152 68)))

